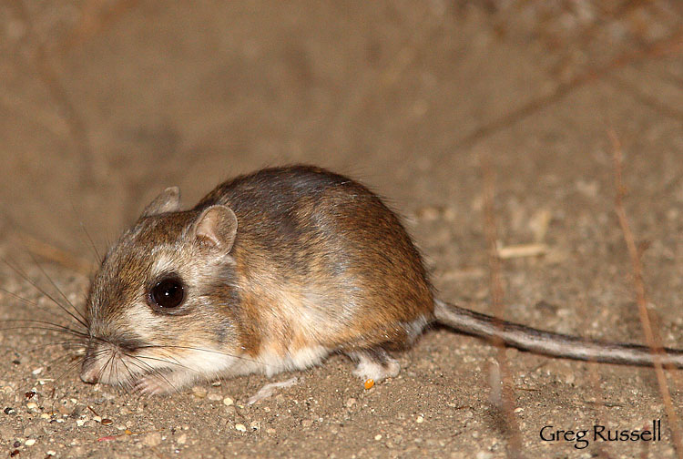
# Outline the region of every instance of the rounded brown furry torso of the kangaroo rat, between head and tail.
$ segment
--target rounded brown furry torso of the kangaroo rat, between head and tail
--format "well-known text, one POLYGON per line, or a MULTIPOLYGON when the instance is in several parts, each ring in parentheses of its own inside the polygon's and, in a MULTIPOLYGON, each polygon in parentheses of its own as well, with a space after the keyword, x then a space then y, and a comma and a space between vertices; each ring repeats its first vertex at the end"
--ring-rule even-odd
POLYGON ((230 254, 245 325, 260 321, 253 326, 290 346, 312 336, 331 349, 395 348, 431 318, 420 254, 358 182, 321 168, 267 168, 219 185, 194 210, 215 204, 238 219, 230 254))

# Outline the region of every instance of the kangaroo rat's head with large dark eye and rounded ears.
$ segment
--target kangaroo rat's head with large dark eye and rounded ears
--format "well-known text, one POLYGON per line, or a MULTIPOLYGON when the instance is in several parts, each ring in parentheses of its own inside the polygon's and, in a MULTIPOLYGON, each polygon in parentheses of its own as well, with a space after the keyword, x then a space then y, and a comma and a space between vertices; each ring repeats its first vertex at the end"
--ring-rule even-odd
POLYGON ((165 392, 239 352, 229 314, 237 218, 226 206, 179 209, 178 188, 166 189, 107 251, 87 298, 83 381, 165 392))

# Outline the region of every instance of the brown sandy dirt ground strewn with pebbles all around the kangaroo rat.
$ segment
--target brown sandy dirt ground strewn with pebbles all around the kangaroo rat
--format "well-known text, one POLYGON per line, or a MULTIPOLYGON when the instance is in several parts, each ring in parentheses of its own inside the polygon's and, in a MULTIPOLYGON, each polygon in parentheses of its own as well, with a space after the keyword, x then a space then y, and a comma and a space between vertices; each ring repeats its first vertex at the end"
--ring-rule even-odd
MULTIPOLYGON (((21 327, 69 323, 48 295, 81 307, 92 245, 160 189, 179 185, 190 205, 293 162, 387 197, 440 296, 490 312, 484 157, 501 246, 547 247, 504 260, 505 317, 643 342, 613 128, 651 311, 683 347, 682 14, 676 0, 4 2, 0 254, 18 268, 0 266, 0 456, 674 457, 649 369, 508 350, 501 410, 494 347, 436 329, 370 390, 334 356, 248 406, 265 377, 139 397, 80 382, 68 337, 21 327), (657 419, 658 442, 540 438, 657 419)), ((680 416, 678 373, 669 382, 680 416)))

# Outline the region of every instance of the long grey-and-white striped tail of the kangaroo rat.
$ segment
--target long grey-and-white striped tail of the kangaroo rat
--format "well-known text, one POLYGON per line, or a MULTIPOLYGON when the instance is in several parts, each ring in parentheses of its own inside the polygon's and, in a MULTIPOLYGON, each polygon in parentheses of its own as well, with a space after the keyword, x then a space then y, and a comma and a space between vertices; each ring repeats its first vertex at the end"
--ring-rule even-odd
MULTIPOLYGON (((498 338, 524 351, 591 362, 652 366, 655 355, 639 344, 601 342, 588 338, 536 330, 509 321, 469 311, 440 300, 434 301, 436 321, 456 331, 482 338, 498 338)), ((664 348, 658 352, 663 365, 683 368, 683 351, 664 348)))

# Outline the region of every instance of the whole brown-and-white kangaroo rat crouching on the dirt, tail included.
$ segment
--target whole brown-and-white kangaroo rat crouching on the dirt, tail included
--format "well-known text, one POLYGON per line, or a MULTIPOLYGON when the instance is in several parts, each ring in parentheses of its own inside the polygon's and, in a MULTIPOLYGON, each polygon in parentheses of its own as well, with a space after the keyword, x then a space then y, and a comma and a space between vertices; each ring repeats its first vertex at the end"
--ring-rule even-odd
MULTIPOLYGON (((231 179, 194 208, 163 191, 107 251, 87 297, 84 382, 166 393, 198 380, 272 375, 343 352, 355 374, 399 372, 387 351, 432 322, 510 346, 648 365, 645 346, 538 331, 436 300, 396 215, 321 168, 231 179)), ((683 366, 683 351, 663 362, 683 366)))

